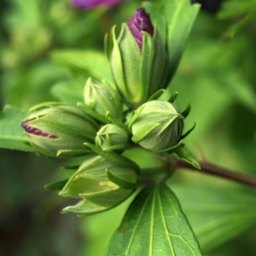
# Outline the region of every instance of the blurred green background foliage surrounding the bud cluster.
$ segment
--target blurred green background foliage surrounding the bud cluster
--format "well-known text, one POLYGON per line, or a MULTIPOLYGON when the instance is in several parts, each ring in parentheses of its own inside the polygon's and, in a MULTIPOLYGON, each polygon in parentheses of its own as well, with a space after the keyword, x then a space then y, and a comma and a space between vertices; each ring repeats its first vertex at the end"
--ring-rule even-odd
MULTIPOLYGON (((217 13, 201 9, 165 96, 177 90, 182 109, 189 98, 192 111, 185 129, 193 122, 196 128, 186 143, 198 158, 256 176, 253 2, 227 0, 217 13)), ((74 102, 79 99, 88 73, 79 67, 67 69, 60 61, 57 65, 52 53, 103 50, 105 33, 128 20, 141 1, 92 10, 74 9, 67 0, 0 4, 0 106, 27 110, 39 102, 65 99, 62 89, 67 84, 75 88, 74 102)), ((70 201, 44 190, 44 184, 65 176, 60 169, 64 162, 5 149, 0 159, 0 255, 103 254, 129 201, 88 218, 61 215, 70 201)), ((148 155, 143 161, 142 166, 150 164, 148 155)), ((256 255, 255 189, 182 170, 169 184, 204 255, 256 255)))

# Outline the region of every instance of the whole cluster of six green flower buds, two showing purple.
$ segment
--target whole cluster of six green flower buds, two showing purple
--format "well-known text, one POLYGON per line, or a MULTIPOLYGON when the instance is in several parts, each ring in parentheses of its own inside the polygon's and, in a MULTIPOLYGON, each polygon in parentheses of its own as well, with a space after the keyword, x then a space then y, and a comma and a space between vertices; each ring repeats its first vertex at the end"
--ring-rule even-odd
POLYGON ((86 158, 61 188, 60 195, 81 200, 64 212, 91 214, 118 205, 137 188, 140 171, 122 152, 132 144, 168 153, 188 134, 183 119, 189 106, 180 112, 176 93, 158 100, 169 83, 166 42, 145 10, 137 9, 118 37, 113 27, 108 39, 115 87, 89 78, 77 107, 40 104, 21 124, 39 154, 86 158))

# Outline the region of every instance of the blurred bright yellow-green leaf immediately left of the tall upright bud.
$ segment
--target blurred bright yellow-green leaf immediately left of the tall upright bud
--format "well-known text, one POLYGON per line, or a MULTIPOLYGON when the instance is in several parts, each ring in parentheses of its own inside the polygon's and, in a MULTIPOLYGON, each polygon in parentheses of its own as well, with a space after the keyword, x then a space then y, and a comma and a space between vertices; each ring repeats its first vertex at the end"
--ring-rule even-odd
POLYGON ((68 68, 79 67, 90 75, 108 84, 113 84, 107 57, 96 50, 55 50, 51 57, 54 61, 68 68))

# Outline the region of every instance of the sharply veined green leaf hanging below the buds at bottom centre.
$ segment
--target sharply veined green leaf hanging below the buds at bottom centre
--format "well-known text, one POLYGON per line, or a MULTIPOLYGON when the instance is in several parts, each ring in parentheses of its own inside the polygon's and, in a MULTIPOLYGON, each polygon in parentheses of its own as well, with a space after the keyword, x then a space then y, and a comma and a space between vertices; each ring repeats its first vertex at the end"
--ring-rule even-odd
POLYGON ((131 203, 105 255, 201 255, 177 197, 165 183, 143 189, 131 203))

